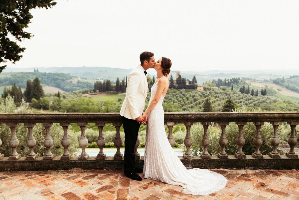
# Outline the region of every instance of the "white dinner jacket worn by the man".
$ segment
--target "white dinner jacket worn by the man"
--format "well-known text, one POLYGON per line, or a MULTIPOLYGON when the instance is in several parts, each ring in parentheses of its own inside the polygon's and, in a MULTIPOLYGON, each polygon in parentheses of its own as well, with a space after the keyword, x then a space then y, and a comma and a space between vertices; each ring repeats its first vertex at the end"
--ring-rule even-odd
POLYGON ((138 65, 128 77, 126 97, 120 109, 120 115, 128 119, 142 116, 147 97, 147 77, 144 69, 138 65))

